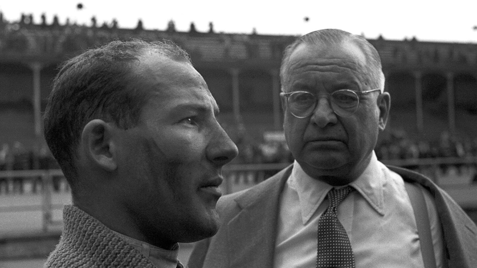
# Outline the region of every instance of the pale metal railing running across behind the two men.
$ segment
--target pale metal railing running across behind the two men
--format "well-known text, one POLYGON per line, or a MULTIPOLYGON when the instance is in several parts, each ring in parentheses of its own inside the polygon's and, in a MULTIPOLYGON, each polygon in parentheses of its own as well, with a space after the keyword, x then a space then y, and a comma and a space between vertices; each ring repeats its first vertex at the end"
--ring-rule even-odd
MULTIPOLYGON (((404 167, 414 167, 426 175, 429 175, 436 183, 436 174, 442 166, 473 166, 477 167, 477 157, 468 158, 429 158, 429 159, 399 159, 384 160, 384 164, 404 167)), ((247 184, 255 185, 271 175, 277 173, 290 163, 278 164, 229 164, 223 168, 225 193, 234 191, 234 185, 247 184)), ((477 177, 477 168, 476 177, 477 177)), ((469 181, 471 183, 471 181, 469 181)), ((54 221, 52 218, 53 209, 61 209, 62 205, 52 203, 54 192, 69 192, 69 187, 60 169, 52 170, 15 170, 0 171, 0 195, 21 195, 31 192, 41 194, 41 204, 25 206, 0 206, 2 212, 38 211, 42 213, 42 229, 44 232, 52 225, 62 222, 54 221), (20 186, 15 186, 21 184, 20 186), (28 187, 26 187, 28 186, 28 187), (23 188, 18 188, 23 187, 23 188), (29 188, 29 189, 27 189, 29 188)))

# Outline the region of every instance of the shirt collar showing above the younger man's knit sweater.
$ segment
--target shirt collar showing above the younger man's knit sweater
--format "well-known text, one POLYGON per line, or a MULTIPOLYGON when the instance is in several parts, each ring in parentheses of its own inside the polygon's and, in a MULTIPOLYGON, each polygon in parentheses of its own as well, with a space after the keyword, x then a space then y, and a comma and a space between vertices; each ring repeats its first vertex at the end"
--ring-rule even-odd
POLYGON ((137 240, 133 237, 125 236, 121 233, 113 231, 116 235, 123 238, 126 242, 131 244, 136 250, 141 252, 146 258, 151 260, 157 267, 171 267, 176 268, 179 254, 179 244, 176 243, 171 250, 161 247, 156 247, 149 243, 137 240))

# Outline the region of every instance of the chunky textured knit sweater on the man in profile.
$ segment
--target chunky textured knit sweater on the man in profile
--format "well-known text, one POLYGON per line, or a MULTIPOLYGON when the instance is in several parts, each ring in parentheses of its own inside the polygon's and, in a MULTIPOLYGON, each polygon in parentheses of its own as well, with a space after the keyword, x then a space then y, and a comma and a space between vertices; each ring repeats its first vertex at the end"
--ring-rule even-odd
MULTIPOLYGON (((132 245, 76 206, 64 207, 63 221, 60 243, 48 257, 45 268, 156 267, 132 245)), ((181 267, 178 263, 177 268, 181 267)))

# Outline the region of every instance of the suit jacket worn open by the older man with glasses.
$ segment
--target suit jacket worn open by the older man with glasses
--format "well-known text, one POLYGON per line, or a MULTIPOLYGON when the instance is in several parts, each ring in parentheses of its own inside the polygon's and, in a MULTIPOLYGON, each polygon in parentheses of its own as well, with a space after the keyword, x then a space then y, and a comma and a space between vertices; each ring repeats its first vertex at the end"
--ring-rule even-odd
MULTIPOLYGON (((462 208, 429 178, 388 166, 404 181, 424 186, 435 198, 449 268, 477 267, 477 227, 462 208)), ((247 190, 219 199, 221 227, 197 242, 189 268, 272 268, 279 200, 292 165, 247 190)))

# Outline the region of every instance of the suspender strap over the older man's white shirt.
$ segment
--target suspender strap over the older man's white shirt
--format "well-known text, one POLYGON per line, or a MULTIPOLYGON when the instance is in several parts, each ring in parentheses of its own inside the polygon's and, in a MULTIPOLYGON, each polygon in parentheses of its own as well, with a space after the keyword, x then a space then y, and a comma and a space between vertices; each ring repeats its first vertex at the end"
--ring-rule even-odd
POLYGON ((427 213, 424 194, 419 186, 413 183, 404 182, 404 186, 406 187, 407 194, 409 195, 409 199, 411 199, 411 205, 414 210, 424 267, 436 268, 436 257, 434 255, 434 245, 431 237, 431 225, 429 222, 429 214, 427 213))

